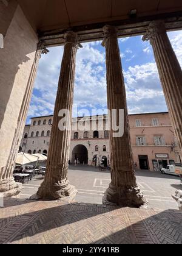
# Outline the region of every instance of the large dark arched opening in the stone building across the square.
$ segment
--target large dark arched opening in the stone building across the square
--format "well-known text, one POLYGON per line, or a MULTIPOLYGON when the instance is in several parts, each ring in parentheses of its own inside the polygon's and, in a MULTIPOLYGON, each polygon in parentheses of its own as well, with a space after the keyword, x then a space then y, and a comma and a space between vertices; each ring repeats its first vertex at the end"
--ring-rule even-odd
POLYGON ((75 159, 79 160, 79 163, 81 163, 82 165, 88 164, 88 150, 86 148, 86 146, 84 145, 77 145, 75 146, 75 148, 73 148, 72 151, 72 163, 75 162, 75 159))

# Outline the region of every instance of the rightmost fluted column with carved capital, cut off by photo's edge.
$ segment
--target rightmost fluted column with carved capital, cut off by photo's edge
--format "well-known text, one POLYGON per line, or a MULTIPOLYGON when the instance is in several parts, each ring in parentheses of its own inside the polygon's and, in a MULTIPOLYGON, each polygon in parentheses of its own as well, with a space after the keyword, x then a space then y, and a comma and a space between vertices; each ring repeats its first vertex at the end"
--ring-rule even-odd
POLYGON ((182 159, 182 71, 162 20, 150 23, 143 41, 150 40, 182 159))

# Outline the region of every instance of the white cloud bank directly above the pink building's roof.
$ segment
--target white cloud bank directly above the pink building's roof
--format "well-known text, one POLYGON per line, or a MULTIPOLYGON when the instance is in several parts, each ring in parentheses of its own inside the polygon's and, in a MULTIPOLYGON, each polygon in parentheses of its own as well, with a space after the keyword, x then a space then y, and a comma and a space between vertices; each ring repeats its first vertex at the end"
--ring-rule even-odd
POLYGON ((129 113, 166 111, 155 63, 130 66, 124 71, 129 113))

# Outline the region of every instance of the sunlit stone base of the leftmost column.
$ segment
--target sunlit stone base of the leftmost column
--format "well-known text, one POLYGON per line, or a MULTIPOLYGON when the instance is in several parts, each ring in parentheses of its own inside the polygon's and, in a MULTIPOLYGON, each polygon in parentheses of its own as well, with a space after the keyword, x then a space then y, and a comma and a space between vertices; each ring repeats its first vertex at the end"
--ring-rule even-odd
POLYGON ((0 193, 3 197, 17 196, 22 189, 22 183, 16 183, 14 178, 0 182, 0 193))

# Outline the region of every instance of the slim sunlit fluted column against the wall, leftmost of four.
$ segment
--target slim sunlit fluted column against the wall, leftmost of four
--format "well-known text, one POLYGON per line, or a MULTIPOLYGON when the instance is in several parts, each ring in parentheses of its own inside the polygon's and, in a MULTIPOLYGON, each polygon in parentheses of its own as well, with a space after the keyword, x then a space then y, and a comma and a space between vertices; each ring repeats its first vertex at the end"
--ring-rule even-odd
POLYGON ((33 84, 35 81, 39 59, 42 53, 47 53, 48 50, 42 43, 38 44, 38 49, 35 53, 35 59, 30 72, 30 77, 25 89, 24 99, 21 105, 21 111, 19 113, 17 128, 12 142, 12 148, 8 156, 7 165, 1 168, 0 171, 0 193, 4 197, 16 196, 22 190, 22 184, 16 183, 13 177, 13 170, 15 168, 15 160, 18 154, 19 145, 21 143, 22 133, 25 127, 25 121, 27 119, 27 113, 29 110, 30 101, 32 98, 33 84))

